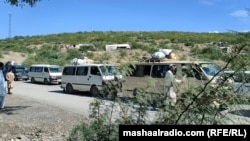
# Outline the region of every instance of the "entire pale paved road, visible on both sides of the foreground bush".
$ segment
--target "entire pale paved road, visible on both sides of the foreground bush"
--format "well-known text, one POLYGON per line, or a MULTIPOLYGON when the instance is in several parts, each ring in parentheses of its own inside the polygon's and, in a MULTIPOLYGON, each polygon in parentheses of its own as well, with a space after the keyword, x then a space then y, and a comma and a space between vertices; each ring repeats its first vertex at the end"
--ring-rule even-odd
MULTIPOLYGON (((94 100, 88 93, 66 94, 60 85, 32 84, 29 81, 15 81, 14 94, 64 110, 89 116, 89 103, 94 100)), ((250 105, 237 105, 230 111, 223 111, 230 119, 224 124, 250 124, 250 105), (241 112, 241 113, 239 113, 241 112)))

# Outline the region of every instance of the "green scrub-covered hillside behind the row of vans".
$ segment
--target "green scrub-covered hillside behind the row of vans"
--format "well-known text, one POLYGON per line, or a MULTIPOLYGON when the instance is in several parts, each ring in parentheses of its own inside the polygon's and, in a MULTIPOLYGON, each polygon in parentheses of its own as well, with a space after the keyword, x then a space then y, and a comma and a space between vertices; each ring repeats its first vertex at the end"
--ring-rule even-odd
MULTIPOLYGON (((135 54, 120 51, 119 56, 126 58, 132 55, 150 55, 158 49, 173 49, 181 52, 181 60, 192 57, 204 60, 222 60, 226 56, 218 49, 216 43, 224 43, 228 47, 238 43, 241 35, 237 33, 191 33, 191 32, 77 32, 41 36, 15 36, 11 39, 0 40, 0 57, 9 51, 20 52, 27 56, 23 62, 30 66, 34 63, 50 63, 65 65, 72 58, 86 56, 100 62, 112 58, 105 53, 106 44, 131 45, 132 50, 142 50, 135 54), (66 46, 77 44, 93 44, 95 48, 66 49, 66 46), (95 52, 99 52, 95 57, 95 52), (101 52, 101 55, 100 55, 101 52)), ((248 50, 246 50, 248 51, 248 50)), ((121 60, 116 60, 118 63, 121 60)))

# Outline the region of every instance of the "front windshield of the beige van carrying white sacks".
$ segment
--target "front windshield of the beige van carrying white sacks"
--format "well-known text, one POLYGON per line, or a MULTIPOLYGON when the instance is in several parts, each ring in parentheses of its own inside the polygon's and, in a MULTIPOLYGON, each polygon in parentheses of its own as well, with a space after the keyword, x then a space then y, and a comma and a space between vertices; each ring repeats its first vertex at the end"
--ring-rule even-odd
POLYGON ((204 72, 209 76, 214 76, 217 72, 221 70, 221 68, 213 63, 201 63, 201 68, 204 72))

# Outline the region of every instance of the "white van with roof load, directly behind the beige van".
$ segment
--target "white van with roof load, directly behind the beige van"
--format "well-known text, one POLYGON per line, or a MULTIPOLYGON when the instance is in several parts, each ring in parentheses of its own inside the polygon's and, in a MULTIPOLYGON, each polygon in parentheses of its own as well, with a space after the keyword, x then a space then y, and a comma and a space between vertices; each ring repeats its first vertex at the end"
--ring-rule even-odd
POLYGON ((64 66, 61 88, 66 93, 89 92, 96 97, 106 82, 122 79, 118 67, 112 64, 70 64, 64 66))

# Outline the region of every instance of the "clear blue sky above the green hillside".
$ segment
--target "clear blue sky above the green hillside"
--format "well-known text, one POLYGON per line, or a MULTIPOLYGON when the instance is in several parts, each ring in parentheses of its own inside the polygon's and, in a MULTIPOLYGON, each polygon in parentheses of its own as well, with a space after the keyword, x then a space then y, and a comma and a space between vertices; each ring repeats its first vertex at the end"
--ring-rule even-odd
POLYGON ((249 0, 0 1, 0 39, 92 31, 250 31, 249 0))

